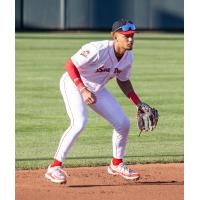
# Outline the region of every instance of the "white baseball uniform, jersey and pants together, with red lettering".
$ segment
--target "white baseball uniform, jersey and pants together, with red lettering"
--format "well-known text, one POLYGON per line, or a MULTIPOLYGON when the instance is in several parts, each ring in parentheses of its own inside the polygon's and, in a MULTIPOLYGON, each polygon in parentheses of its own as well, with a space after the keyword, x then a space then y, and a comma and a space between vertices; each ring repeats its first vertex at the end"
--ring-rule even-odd
MULTIPOLYGON (((113 157, 121 159, 127 143, 130 122, 116 99, 104 85, 113 77, 129 80, 133 61, 132 51, 126 51, 120 61, 114 53, 113 41, 105 40, 84 45, 71 57, 84 85, 96 96, 96 103, 89 105, 96 113, 109 121, 114 130, 112 137, 113 157)), ((87 123, 87 105, 74 82, 65 72, 60 80, 60 90, 71 120, 63 133, 55 159, 63 162, 73 142, 87 123)))

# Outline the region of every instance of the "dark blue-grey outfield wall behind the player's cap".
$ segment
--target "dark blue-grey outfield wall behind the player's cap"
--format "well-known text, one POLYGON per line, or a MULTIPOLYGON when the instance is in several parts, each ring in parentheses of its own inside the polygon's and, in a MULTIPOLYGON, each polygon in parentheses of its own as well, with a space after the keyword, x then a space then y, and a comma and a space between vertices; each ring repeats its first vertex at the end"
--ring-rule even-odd
POLYGON ((183 30, 183 0, 15 0, 16 30, 110 30, 120 18, 138 29, 183 30))

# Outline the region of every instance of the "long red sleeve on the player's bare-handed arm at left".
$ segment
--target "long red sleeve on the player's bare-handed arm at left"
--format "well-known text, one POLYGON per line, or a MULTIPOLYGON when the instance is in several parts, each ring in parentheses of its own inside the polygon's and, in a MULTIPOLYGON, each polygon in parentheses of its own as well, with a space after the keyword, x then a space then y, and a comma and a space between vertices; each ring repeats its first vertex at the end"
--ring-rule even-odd
POLYGON ((80 74, 74 63, 71 59, 69 59, 65 64, 65 69, 68 72, 70 78, 75 83, 75 85, 78 87, 80 91, 84 90, 86 86, 83 84, 83 81, 81 80, 80 74))

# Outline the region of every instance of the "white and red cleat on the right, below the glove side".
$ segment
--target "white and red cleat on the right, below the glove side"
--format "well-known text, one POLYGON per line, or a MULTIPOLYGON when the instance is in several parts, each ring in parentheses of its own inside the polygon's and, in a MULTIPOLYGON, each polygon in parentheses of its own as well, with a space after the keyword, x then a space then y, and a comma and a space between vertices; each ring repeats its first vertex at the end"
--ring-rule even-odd
POLYGON ((108 173, 112 175, 120 175, 125 179, 138 180, 140 178, 140 174, 134 170, 129 169, 124 163, 120 163, 117 166, 114 166, 111 162, 108 167, 108 173))

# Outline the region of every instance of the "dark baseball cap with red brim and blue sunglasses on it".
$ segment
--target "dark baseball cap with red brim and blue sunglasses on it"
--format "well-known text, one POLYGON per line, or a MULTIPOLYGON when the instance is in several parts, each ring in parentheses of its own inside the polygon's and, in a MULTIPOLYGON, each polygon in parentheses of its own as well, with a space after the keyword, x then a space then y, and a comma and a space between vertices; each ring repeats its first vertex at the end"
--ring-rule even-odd
POLYGON ((120 19, 113 23, 112 32, 118 32, 123 35, 138 33, 136 26, 132 21, 120 19))

